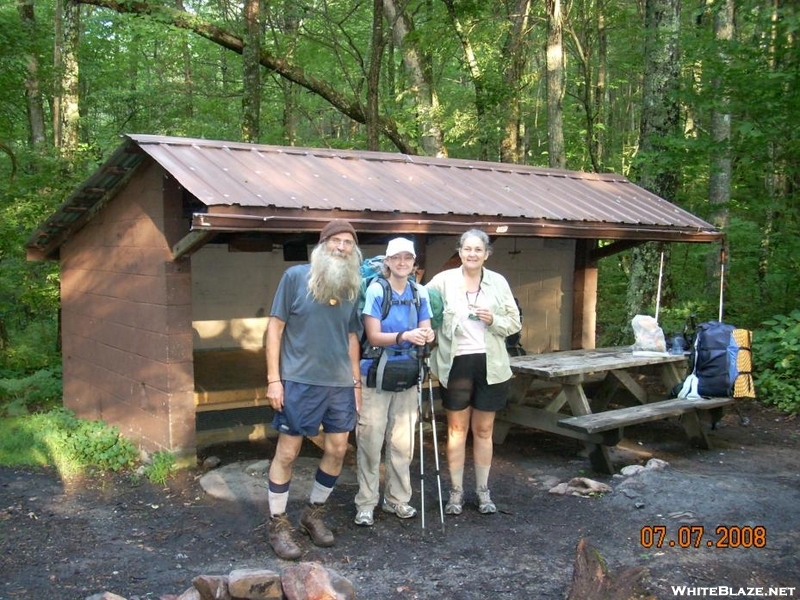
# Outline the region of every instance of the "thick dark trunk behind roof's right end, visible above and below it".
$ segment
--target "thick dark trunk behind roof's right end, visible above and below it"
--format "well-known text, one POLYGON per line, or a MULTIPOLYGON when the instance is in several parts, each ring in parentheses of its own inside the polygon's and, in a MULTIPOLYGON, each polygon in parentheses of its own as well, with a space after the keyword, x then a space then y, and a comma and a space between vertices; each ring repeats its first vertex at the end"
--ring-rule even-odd
MULTIPOLYGON (((641 159, 638 183, 654 194, 674 199, 678 175, 662 160, 669 153, 669 140, 678 133, 678 34, 680 32, 680 0, 646 0, 645 65, 642 90, 642 122, 640 125, 641 159)), ((669 247, 648 243, 631 253, 631 275, 628 282, 628 317, 649 313, 655 308, 659 292, 660 252, 669 264, 669 247)), ((671 283, 665 270, 661 284, 662 297, 671 296, 671 283)), ((652 313, 650 313, 652 314, 652 313)))

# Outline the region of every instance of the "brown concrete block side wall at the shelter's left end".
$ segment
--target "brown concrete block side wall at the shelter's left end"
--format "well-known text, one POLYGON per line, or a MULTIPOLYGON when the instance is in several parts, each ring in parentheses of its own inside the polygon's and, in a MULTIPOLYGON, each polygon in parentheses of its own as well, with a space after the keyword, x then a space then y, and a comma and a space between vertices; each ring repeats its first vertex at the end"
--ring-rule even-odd
POLYGON ((191 271, 174 182, 143 167, 61 249, 64 404, 149 451, 194 449, 191 271))

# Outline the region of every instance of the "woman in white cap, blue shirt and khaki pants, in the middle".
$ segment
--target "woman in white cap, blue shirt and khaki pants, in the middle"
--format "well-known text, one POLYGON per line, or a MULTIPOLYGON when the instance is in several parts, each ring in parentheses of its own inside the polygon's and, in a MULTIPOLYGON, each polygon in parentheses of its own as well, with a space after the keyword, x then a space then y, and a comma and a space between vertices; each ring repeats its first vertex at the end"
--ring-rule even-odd
MULTIPOLYGON (((411 500, 411 459, 414 456, 414 430, 417 422, 417 395, 414 385, 419 372, 415 346, 424 346, 434 338, 428 293, 423 286, 409 281, 414 272, 416 252, 414 243, 406 238, 394 238, 386 247, 383 276, 389 285, 373 281, 367 288, 364 301, 364 329, 371 346, 383 349, 388 359, 406 363, 409 372, 405 381, 396 387, 387 375, 369 377, 370 368, 376 371, 377 358, 361 361, 362 401, 356 426, 358 444, 358 493, 356 494, 355 523, 371 526, 373 510, 380 498, 381 448, 385 450, 384 512, 401 519, 410 519, 417 510, 411 500), (391 305, 384 316, 384 293, 391 294, 391 305), (415 299, 418 299, 415 300, 415 299), (374 364, 375 363, 375 364, 374 364), (381 382, 380 385, 378 382, 381 382), (379 387, 375 387, 379 385, 379 387), (372 386, 372 387, 370 387, 372 386), (397 388, 404 388, 398 390, 397 388), (382 389, 381 389, 382 388, 382 389), (389 388, 389 389, 387 389, 389 388)), ((399 363, 398 363, 399 366, 399 363)), ((387 368, 386 373, 389 370, 387 368)))

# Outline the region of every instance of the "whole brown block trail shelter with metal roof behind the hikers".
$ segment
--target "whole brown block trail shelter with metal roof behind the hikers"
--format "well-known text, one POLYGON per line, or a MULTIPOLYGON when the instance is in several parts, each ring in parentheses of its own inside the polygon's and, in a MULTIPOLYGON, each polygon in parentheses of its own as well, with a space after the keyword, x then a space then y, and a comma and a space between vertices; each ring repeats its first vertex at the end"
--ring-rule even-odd
POLYGON ((365 257, 413 238, 423 283, 486 231, 529 354, 594 347, 602 257, 722 237, 614 174, 127 135, 26 243, 60 265, 65 406, 148 451, 263 434, 272 297, 334 218, 365 257))

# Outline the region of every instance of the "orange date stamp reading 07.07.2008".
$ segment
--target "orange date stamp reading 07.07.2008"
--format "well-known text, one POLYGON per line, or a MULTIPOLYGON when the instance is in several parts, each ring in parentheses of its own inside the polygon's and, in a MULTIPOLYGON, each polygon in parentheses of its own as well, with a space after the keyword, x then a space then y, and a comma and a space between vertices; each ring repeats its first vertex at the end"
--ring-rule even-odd
POLYGON ((703 525, 644 525, 639 530, 643 548, 766 548, 767 528, 762 525, 718 525, 713 532, 703 525))

